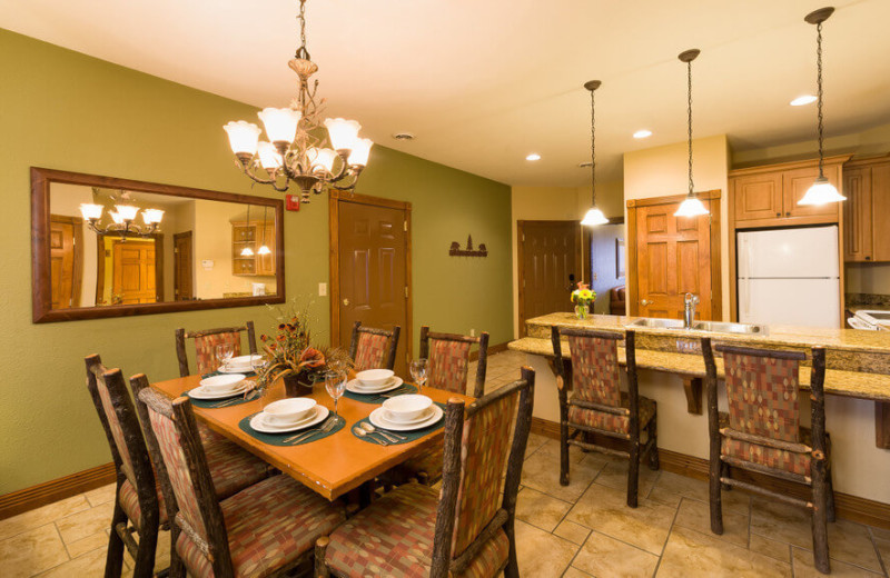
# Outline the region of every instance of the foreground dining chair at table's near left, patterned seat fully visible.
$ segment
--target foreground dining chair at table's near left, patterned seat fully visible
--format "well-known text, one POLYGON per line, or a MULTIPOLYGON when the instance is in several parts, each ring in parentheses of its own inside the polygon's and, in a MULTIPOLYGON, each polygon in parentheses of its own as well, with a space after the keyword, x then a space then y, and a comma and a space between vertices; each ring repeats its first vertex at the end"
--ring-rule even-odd
POLYGON ((139 391, 165 465, 161 484, 175 497, 170 576, 283 576, 312 568, 313 544, 345 520, 339 502, 328 502, 289 476, 273 476, 220 500, 195 413, 187 397, 172 401, 139 391))

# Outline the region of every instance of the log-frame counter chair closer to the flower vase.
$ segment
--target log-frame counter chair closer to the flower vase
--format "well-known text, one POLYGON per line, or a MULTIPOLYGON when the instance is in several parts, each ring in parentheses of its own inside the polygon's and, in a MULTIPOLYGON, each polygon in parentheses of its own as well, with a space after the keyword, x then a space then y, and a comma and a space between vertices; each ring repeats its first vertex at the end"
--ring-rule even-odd
POLYGON ((627 459, 627 506, 636 508, 640 460, 647 457, 649 468, 659 469, 659 438, 657 406, 637 390, 635 333, 554 326, 551 342, 560 398, 560 484, 568 485, 568 446, 619 456, 627 459), (563 337, 568 340, 571 362, 563 359, 563 337), (625 371, 619 365, 621 340, 625 371), (622 372, 627 391, 621 390, 622 372), (641 446, 643 431, 646 439, 641 446), (597 436, 617 440, 619 449, 603 445, 597 436))

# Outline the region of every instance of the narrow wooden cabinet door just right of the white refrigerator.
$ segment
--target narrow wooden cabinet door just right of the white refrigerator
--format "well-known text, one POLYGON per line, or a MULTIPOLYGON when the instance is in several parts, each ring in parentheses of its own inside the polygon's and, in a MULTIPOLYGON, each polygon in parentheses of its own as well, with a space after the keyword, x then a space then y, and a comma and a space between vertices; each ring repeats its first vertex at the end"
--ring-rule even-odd
POLYGON ((843 171, 843 260, 870 261, 872 258, 871 168, 843 171))

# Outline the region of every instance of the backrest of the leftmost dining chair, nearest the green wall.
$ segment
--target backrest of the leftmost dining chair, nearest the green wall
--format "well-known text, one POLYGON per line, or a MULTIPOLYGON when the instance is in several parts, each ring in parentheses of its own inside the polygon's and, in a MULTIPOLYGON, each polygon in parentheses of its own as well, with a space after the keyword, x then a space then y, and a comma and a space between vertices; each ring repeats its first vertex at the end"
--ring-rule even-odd
MULTIPOLYGON (((142 524, 157 525, 158 495, 155 472, 123 376, 120 369, 107 369, 98 355, 88 356, 85 361, 87 389, 108 438, 118 482, 121 484, 126 479, 136 488, 142 511, 142 524)), ((142 529, 145 528, 140 528, 142 529)))

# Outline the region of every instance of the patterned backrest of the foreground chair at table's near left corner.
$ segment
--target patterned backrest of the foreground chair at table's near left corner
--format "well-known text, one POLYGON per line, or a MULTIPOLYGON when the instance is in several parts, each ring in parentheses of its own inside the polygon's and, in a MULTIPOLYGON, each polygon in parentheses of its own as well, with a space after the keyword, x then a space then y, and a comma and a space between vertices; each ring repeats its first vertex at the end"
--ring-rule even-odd
POLYGON ((161 484, 176 499, 175 524, 211 561, 218 575, 231 574, 231 555, 222 510, 214 489, 198 426, 187 397, 172 402, 150 388, 139 391, 166 467, 161 484), (221 571, 228 568, 228 571, 221 571))

